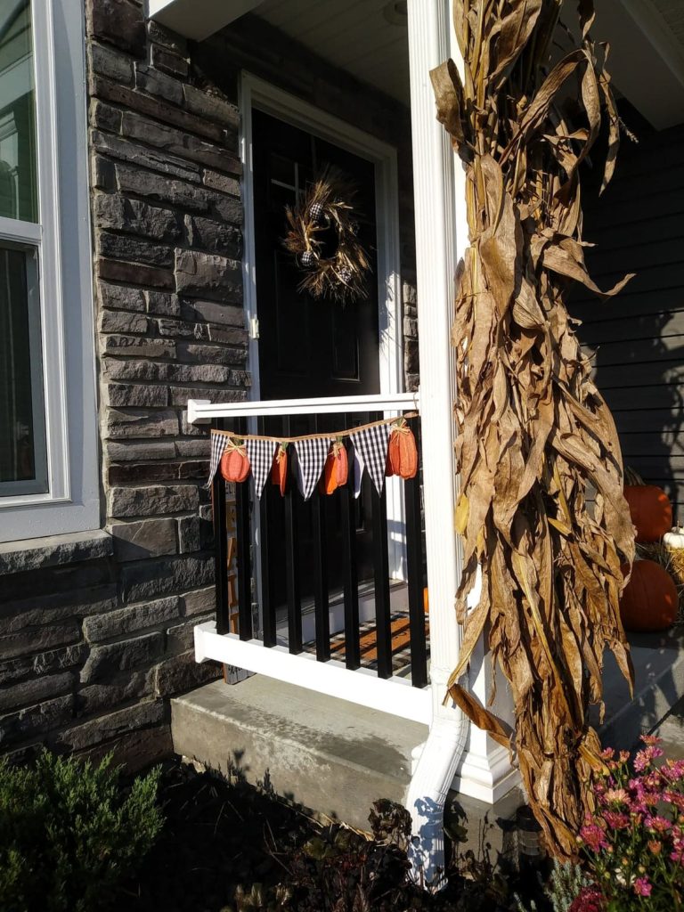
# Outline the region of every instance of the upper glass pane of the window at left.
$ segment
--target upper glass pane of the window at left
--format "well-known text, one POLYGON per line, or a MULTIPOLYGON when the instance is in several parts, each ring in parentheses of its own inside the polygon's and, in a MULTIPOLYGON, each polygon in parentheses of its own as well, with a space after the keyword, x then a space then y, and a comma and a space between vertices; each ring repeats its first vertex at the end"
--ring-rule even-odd
POLYGON ((30 0, 0 0, 0 215, 25 222, 38 221, 33 70, 30 0))

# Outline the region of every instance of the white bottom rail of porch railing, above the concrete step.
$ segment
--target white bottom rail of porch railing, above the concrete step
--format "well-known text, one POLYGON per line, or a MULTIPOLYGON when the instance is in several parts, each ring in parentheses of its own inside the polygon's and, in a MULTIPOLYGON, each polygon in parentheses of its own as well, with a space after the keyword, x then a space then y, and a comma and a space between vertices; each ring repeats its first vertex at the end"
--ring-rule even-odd
POLYGON ((292 655, 282 646, 266 648, 258 639, 241 640, 236 634, 218 634, 214 621, 199 624, 194 629, 194 636, 195 660, 198 662, 212 658, 224 665, 246 668, 269 678, 316 690, 328 697, 430 725, 432 702, 429 687, 411 687, 404 678, 378 678, 377 673, 369 668, 352 671, 334 658, 319 662, 316 656, 306 652, 292 655))

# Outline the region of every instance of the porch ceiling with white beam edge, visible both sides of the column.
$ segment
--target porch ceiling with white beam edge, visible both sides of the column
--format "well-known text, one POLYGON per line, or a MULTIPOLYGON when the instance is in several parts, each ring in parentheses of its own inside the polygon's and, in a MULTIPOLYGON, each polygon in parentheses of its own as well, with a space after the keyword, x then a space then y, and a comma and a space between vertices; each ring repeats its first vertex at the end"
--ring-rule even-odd
MULTIPOLYGON (((421 0, 428 2, 428 0, 421 0)), ((150 16, 198 40, 254 11, 362 82, 409 104, 405 0, 149 0, 150 16)), ((575 30, 575 5, 567 25, 575 30)), ((614 84, 658 130, 684 121, 682 0, 602 0, 594 33, 614 84)))

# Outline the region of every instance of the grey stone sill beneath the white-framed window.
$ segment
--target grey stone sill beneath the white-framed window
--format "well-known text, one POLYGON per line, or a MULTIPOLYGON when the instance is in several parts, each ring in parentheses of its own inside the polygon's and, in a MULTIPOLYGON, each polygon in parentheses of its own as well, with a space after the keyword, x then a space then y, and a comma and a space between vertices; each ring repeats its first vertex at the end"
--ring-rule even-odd
POLYGON ((112 536, 98 530, 0 544, 0 576, 98 560, 114 553, 112 536))

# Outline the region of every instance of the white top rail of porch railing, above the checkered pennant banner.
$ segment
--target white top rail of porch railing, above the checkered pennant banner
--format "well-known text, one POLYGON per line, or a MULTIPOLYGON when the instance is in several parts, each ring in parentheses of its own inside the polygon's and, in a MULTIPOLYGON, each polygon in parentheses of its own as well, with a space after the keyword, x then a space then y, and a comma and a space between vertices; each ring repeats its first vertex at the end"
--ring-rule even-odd
POLYGON ((188 399, 190 424, 214 418, 258 418, 271 415, 333 415, 350 411, 420 411, 420 392, 327 396, 319 399, 262 399, 259 402, 210 402, 188 399))

